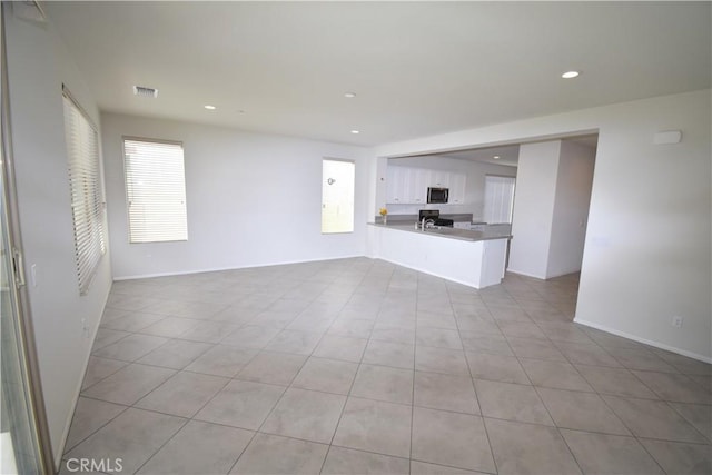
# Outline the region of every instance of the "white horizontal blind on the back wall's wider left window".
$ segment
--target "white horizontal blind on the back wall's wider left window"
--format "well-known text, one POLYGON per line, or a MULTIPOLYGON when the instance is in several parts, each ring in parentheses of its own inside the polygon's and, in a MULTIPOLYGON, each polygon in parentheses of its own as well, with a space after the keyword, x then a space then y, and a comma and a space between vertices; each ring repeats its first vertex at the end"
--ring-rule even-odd
POLYGON ((182 144, 123 139, 129 241, 188 240, 182 144))

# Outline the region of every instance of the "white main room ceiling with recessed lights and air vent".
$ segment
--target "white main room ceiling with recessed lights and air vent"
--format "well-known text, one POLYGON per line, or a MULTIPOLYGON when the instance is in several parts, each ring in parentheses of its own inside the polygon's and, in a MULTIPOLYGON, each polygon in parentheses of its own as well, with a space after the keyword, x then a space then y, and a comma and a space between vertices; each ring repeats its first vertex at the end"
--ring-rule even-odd
POLYGON ((709 88, 710 7, 44 4, 102 110, 364 146, 709 88))

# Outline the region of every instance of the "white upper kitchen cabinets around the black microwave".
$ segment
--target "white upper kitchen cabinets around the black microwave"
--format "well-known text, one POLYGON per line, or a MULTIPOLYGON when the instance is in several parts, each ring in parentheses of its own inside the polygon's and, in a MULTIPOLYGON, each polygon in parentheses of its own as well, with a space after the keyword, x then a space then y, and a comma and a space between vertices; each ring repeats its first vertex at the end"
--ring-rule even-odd
POLYGON ((427 168, 388 167, 386 202, 395 205, 424 205, 427 188, 449 188, 448 204, 465 202, 465 174, 431 170, 427 168))

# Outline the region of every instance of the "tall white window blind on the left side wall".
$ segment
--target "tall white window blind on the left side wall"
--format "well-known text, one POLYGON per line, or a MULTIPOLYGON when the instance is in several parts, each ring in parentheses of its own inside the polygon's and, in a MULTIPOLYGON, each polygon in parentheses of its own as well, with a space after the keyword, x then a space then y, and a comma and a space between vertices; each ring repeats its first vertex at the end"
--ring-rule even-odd
POLYGON ((86 295, 106 253, 99 138, 67 91, 63 102, 77 276, 79 294, 86 295))

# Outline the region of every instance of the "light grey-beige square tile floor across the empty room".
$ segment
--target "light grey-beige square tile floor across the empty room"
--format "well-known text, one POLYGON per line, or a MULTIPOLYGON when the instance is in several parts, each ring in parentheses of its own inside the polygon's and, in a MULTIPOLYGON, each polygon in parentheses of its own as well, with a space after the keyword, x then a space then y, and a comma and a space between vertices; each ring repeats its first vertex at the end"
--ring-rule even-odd
POLYGON ((573 324, 577 284, 367 258, 116 283, 62 472, 711 473, 710 365, 573 324))

